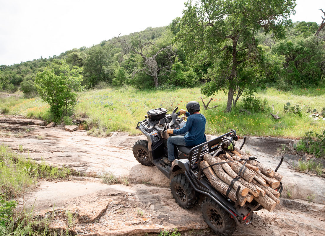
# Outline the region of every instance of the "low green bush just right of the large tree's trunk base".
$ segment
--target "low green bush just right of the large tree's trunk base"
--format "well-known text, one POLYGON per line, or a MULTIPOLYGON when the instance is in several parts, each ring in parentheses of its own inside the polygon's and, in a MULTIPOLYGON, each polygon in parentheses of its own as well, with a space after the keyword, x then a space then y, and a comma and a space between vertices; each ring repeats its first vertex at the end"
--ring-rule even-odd
POLYGON ((259 97, 254 97, 252 95, 245 96, 241 100, 241 106, 243 109, 250 112, 269 112, 271 110, 270 105, 266 98, 261 100, 259 97))

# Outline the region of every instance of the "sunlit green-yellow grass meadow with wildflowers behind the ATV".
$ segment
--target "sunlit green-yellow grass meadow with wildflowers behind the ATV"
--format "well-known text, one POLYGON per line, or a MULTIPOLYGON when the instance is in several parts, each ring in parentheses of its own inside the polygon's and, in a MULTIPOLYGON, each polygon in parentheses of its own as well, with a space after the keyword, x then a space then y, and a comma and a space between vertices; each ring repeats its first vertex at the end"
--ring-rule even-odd
MULTIPOLYGON (((150 109, 165 107, 171 112, 175 106, 185 109, 188 101, 197 100, 201 104, 200 88, 177 88, 173 90, 138 90, 132 87, 119 89, 107 88, 103 90, 88 90, 80 94, 74 113, 78 117, 88 116, 87 126, 92 135, 105 136, 112 131, 139 133, 135 130, 138 121, 144 119, 144 115, 150 109)), ((321 132, 325 129, 325 120, 313 120, 306 113, 308 108, 320 111, 325 107, 324 88, 293 89, 283 92, 274 88, 266 88, 255 93, 262 99, 266 98, 269 105, 274 105, 273 114, 279 112, 279 121, 275 121, 269 113, 240 113, 240 102, 236 109, 226 113, 227 95, 219 92, 213 96, 210 107, 218 105, 214 109, 201 110, 207 119, 206 133, 221 134, 229 129, 237 130, 240 136, 274 136, 300 138, 307 131, 321 132), (290 102, 291 105, 302 107, 303 116, 296 117, 286 114, 283 106, 290 102)), ((207 102, 209 98, 205 98, 207 102)), ((24 115, 50 119, 48 105, 40 98, 0 98, 0 110, 6 114, 24 115)))

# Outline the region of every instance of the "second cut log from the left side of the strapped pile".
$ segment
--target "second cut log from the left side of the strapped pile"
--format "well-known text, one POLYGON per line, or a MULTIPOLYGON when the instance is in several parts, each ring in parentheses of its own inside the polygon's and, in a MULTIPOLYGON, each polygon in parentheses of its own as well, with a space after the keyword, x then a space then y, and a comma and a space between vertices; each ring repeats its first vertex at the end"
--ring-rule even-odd
MULTIPOLYGON (((210 165, 213 165, 215 163, 218 163, 219 161, 216 160, 212 155, 210 154, 205 154, 204 155, 204 160, 207 161, 210 165)), ((220 160, 220 159, 219 159, 220 160)), ((222 162, 222 161, 221 161, 222 162)), ((214 173, 218 176, 218 178, 222 181, 224 181, 226 184, 230 185, 231 181, 234 178, 231 178, 221 167, 221 165, 214 165, 213 167, 214 173)), ((240 195, 241 196, 246 196, 248 193, 248 188, 246 188, 245 186, 243 186, 242 184, 240 184, 239 181, 234 182, 233 184, 233 188, 235 189, 235 191, 238 189, 238 187, 240 186, 240 195)))

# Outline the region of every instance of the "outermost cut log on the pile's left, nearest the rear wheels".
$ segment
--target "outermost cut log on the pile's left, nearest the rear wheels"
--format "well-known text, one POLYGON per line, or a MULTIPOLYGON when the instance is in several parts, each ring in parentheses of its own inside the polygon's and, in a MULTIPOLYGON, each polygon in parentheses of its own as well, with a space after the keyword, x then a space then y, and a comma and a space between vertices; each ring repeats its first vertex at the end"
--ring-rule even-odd
MULTIPOLYGON (((200 167, 203 169, 205 167, 209 167, 209 163, 206 161, 201 161, 200 162, 200 167)), ((222 193, 226 196, 227 194, 227 189, 228 185, 224 183, 222 180, 220 180, 214 173, 213 169, 211 167, 206 168, 203 170, 203 173, 205 176, 208 178, 209 182, 211 183, 212 187, 214 187, 219 193, 222 193)), ((236 202, 237 197, 236 197, 236 191, 231 189, 230 193, 228 194, 228 197, 230 198, 231 201, 236 202)), ((247 199, 246 197, 239 196, 239 205, 243 206, 245 205, 247 199)))

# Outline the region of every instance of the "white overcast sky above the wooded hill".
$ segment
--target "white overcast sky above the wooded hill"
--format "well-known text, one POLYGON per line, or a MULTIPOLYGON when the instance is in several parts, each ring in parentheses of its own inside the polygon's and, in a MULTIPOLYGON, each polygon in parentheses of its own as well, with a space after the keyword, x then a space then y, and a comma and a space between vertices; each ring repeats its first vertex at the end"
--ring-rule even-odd
MULTIPOLYGON (((168 25, 185 0, 0 0, 0 65, 168 25)), ((325 0, 297 0, 293 21, 321 23, 325 0)))

